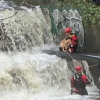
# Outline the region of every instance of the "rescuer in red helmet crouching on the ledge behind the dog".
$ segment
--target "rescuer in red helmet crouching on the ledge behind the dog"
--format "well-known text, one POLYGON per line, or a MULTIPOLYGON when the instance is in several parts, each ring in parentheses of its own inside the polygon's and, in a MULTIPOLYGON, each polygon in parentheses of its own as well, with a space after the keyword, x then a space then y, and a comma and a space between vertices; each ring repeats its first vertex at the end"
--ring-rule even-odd
POLYGON ((77 49, 78 41, 77 41, 76 35, 72 34, 71 32, 72 32, 72 30, 70 27, 66 28, 65 29, 65 33, 66 33, 65 38, 67 38, 67 37, 71 38, 71 41, 72 41, 71 52, 75 52, 77 49))

